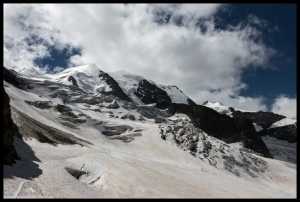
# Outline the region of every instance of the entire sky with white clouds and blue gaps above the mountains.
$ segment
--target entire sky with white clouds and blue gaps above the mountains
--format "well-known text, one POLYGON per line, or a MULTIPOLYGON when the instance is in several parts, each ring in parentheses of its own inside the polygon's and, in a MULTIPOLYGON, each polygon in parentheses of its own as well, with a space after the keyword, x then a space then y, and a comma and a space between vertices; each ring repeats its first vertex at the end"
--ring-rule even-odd
POLYGON ((4 4, 3 65, 93 63, 296 118, 296 4, 4 4))

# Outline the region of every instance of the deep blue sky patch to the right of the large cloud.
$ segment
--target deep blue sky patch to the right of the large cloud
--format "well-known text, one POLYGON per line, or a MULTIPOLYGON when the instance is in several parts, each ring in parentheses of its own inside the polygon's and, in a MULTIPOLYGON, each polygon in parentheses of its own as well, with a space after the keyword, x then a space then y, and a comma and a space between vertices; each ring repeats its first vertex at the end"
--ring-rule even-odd
POLYGON ((261 29, 264 42, 280 53, 270 61, 275 69, 258 68, 243 72, 243 81, 250 87, 241 91, 240 95, 264 95, 269 110, 278 94, 295 97, 296 4, 234 4, 230 11, 220 16, 227 23, 242 21, 253 14, 278 27, 278 31, 261 29))

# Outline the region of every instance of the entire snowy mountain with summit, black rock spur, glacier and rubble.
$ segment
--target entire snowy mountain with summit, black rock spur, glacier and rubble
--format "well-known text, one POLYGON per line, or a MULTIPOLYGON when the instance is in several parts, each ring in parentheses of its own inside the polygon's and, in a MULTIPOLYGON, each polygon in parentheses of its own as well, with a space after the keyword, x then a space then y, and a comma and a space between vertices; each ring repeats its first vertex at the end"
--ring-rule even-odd
POLYGON ((295 143, 262 138, 254 119, 233 117, 238 109, 93 64, 21 73, 3 69, 14 124, 4 134, 5 198, 296 196, 293 156, 273 154, 295 143))

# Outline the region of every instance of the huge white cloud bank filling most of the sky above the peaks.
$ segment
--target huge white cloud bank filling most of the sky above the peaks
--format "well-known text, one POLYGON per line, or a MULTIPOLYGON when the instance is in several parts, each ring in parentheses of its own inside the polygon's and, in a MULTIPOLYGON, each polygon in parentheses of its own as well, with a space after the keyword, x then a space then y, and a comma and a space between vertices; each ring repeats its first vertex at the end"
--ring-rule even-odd
POLYGON ((4 63, 36 68, 33 60, 48 54, 47 44, 81 47, 69 67, 94 63, 106 72, 125 69, 159 84, 177 85, 199 104, 218 98, 229 106, 264 110, 262 98, 239 96, 246 87, 241 73, 250 64, 267 66, 275 50, 255 41, 261 32, 250 22, 216 29, 212 16, 222 6, 6 4, 4 63), (170 23, 154 22, 157 10, 171 14, 170 23), (183 17, 181 26, 175 25, 178 16, 183 17), (198 18, 206 31, 195 26, 198 18), (24 39, 32 35, 44 43, 29 51, 24 39))

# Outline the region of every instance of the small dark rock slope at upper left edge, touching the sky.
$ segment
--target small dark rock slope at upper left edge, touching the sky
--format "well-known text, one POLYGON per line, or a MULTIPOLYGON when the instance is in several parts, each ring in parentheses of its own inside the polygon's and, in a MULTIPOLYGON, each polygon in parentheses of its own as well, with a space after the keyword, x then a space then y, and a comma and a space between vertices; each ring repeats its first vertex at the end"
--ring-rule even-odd
POLYGON ((9 70, 5 67, 3 67, 3 80, 23 90, 26 88, 31 88, 26 79, 21 78, 14 70, 9 70))

